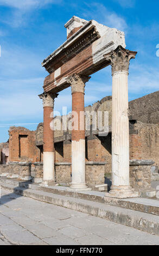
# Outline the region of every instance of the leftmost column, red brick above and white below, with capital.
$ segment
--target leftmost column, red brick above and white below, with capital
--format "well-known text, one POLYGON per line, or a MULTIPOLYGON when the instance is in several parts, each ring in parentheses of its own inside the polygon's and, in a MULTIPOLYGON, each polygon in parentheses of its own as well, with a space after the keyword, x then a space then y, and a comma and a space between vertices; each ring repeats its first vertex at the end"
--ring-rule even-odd
POLYGON ((55 149, 52 127, 54 99, 57 94, 43 93, 43 181, 42 186, 55 184, 55 149))

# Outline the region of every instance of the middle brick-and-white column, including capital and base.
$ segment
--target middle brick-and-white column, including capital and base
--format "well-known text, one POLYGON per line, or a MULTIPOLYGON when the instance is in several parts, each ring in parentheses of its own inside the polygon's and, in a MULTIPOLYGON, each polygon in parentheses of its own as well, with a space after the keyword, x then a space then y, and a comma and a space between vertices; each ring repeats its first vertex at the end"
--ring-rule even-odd
POLYGON ((72 185, 71 190, 85 191, 85 83, 90 77, 74 74, 67 82, 72 89, 72 185))

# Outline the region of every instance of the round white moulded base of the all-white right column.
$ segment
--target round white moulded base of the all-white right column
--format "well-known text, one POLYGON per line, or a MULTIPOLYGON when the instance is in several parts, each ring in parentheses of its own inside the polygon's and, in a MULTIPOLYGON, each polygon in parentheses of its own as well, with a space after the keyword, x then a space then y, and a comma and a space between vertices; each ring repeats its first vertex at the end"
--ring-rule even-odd
POLYGON ((105 193, 105 197, 118 199, 138 197, 138 192, 134 191, 131 186, 111 186, 111 190, 109 193, 105 193))

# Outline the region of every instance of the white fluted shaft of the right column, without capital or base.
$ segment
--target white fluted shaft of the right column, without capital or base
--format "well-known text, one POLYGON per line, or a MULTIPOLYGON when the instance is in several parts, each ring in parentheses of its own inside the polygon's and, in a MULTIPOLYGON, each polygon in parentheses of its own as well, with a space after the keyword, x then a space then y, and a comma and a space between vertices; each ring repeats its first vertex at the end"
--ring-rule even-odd
POLYGON ((112 75, 112 185, 129 186, 128 72, 112 75))

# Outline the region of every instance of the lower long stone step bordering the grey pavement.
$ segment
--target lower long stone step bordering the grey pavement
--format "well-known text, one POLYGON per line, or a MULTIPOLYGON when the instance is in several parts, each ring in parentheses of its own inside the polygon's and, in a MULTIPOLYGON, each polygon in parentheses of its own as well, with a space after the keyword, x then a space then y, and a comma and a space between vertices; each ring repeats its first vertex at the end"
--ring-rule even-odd
POLYGON ((159 217, 155 215, 79 198, 68 198, 48 192, 34 191, 29 188, 17 188, 9 184, 2 184, 1 186, 4 190, 20 194, 21 196, 80 211, 159 236, 159 217))

